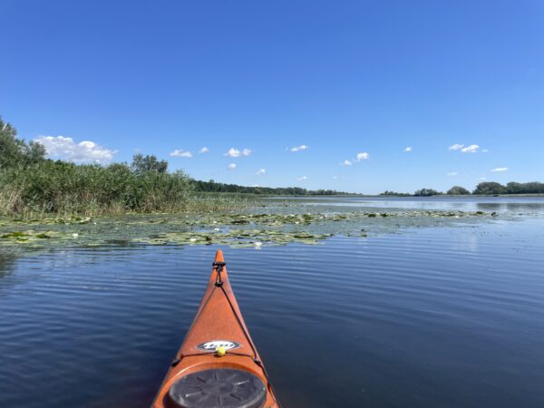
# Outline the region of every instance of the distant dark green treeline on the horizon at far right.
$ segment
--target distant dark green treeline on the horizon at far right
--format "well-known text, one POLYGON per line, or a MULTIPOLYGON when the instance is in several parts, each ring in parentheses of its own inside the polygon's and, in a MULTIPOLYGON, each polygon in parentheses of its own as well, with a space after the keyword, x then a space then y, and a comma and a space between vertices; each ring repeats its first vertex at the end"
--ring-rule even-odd
POLYGON ((418 189, 413 194, 410 193, 397 193, 394 191, 386 190, 380 195, 382 196, 398 196, 398 197, 430 197, 446 194, 449 196, 464 196, 469 194, 476 195, 497 195, 497 194, 544 194, 544 183, 538 181, 531 181, 529 183, 518 183, 510 181, 506 186, 495 181, 484 181, 476 186, 472 192, 461 186, 453 186, 451 189, 443 193, 436 189, 418 189))

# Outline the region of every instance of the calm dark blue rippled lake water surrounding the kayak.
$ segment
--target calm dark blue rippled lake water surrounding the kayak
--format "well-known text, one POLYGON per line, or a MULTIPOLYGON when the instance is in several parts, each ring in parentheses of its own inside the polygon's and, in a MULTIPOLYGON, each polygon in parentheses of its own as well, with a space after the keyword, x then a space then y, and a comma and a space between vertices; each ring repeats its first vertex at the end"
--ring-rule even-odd
MULTIPOLYGON (((223 248, 285 407, 544 406, 544 199, 311 202, 500 217, 223 248)), ((217 248, 0 253, 0 407, 149 406, 217 248)))

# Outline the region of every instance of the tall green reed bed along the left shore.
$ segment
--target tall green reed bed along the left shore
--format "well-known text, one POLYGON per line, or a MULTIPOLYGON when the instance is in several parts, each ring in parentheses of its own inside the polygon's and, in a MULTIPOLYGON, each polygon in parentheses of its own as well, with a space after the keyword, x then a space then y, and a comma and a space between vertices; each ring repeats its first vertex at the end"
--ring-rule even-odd
POLYGON ((127 212, 208 212, 246 207, 233 195, 197 194, 183 172, 45 161, 0 171, 0 214, 41 218, 127 212))

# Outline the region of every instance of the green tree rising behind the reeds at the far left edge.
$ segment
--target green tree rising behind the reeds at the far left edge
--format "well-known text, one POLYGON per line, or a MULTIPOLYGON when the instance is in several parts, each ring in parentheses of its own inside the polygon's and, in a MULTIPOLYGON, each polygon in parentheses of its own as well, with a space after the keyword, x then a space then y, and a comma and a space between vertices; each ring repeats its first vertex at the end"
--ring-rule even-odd
POLYGON ((44 160, 42 144, 35 141, 26 143, 16 136, 15 128, 0 118, 0 169, 28 166, 44 160))

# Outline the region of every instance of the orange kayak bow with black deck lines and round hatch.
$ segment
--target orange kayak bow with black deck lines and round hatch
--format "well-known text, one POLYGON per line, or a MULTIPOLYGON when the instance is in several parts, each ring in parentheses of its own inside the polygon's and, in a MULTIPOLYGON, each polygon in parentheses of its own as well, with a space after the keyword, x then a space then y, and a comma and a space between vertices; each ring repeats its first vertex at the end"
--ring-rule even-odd
POLYGON ((278 408, 217 252, 197 316, 153 408, 278 408))

